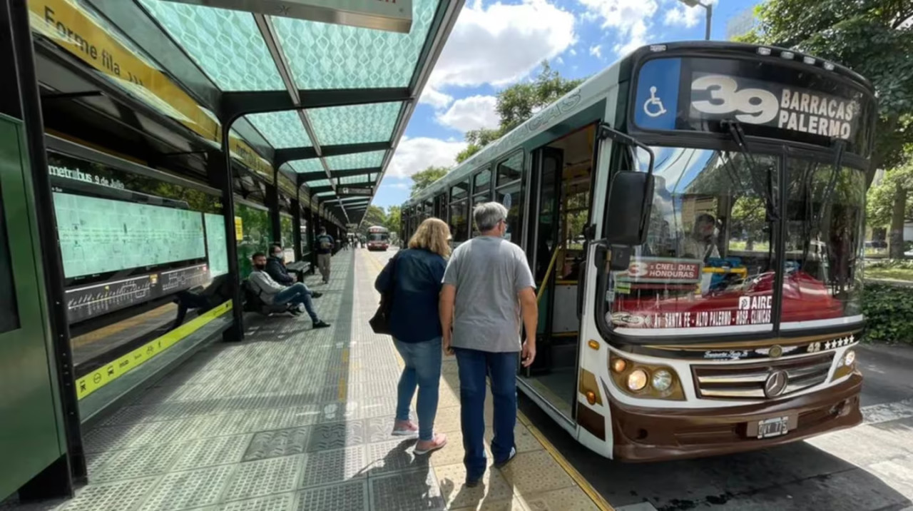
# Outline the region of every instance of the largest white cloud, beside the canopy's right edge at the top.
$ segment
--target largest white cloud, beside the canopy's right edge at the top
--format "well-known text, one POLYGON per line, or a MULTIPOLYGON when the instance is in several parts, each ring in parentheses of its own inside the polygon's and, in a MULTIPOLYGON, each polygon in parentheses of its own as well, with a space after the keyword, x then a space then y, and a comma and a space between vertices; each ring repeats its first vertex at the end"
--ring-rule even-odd
POLYGON ((447 86, 507 85, 554 59, 576 41, 574 16, 548 0, 464 6, 426 88, 441 99, 447 86))

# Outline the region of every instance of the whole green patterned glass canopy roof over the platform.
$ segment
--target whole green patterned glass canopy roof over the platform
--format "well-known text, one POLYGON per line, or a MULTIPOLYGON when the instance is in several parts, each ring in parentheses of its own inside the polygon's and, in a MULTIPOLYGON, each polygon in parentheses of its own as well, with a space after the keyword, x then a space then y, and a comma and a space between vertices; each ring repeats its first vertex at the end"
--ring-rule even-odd
MULTIPOLYGON (((278 162, 291 177, 308 175, 299 179, 299 185, 306 186, 301 193, 330 186, 333 191, 321 190, 316 197, 340 207, 349 222, 359 221, 362 212, 357 218, 347 215, 348 201, 337 200, 336 186, 376 190, 385 171, 382 167, 390 160, 388 153, 408 122, 405 113, 421 95, 456 22, 456 7, 462 5, 457 0, 413 0, 412 25, 404 34, 215 6, 243 5, 226 0, 206 3, 214 6, 169 0, 123 2, 131 2, 138 15, 150 20, 131 19, 131 29, 149 27, 183 50, 181 55, 173 55, 173 50, 163 55, 172 47, 142 48, 162 64, 163 71, 172 71, 173 81, 185 90, 205 87, 199 80, 182 82, 180 77, 187 74, 169 69, 178 59, 192 62, 189 65, 203 72, 221 101, 200 106, 224 120, 234 118, 221 110, 226 98, 235 101, 231 104, 236 112, 244 114, 252 130, 262 136, 260 141, 247 142, 262 149, 266 141, 272 154, 257 149, 261 156, 278 162), (356 176, 351 172, 375 168, 379 172, 356 176)), ((105 9, 101 10, 104 15, 105 9)), ((121 25, 127 23, 121 21, 121 25)), ((131 38, 129 31, 125 35, 131 38)))

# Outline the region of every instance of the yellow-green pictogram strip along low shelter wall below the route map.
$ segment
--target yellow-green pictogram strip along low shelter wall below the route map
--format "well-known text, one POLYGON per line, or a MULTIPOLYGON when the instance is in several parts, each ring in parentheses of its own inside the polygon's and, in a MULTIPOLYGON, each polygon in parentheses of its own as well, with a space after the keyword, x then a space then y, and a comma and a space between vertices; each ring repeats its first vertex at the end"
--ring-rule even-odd
POLYGON ((115 379, 121 378, 121 376, 131 371, 133 367, 141 366, 152 357, 163 353, 163 351, 174 346, 187 335, 193 334, 210 321, 213 321, 216 317, 226 314, 226 312, 230 310, 231 301, 229 300, 226 303, 215 306, 204 314, 200 314, 192 321, 178 326, 171 332, 156 339, 152 339, 152 341, 134 349, 127 355, 110 362, 107 366, 100 367, 90 372, 88 375, 79 378, 76 380, 76 398, 83 399, 92 392, 108 385, 115 379))

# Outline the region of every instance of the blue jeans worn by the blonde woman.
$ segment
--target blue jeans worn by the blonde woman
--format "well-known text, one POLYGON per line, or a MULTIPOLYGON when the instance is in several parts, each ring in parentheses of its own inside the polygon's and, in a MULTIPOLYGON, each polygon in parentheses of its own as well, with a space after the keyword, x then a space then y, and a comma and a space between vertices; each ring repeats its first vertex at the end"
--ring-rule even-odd
POLYGON ((418 401, 415 407, 418 415, 418 438, 430 442, 435 439, 437 390, 441 382, 443 357, 441 338, 420 343, 404 343, 394 339, 394 346, 405 362, 403 376, 400 377, 396 392, 396 420, 409 420, 409 405, 415 395, 415 387, 418 386, 418 401))

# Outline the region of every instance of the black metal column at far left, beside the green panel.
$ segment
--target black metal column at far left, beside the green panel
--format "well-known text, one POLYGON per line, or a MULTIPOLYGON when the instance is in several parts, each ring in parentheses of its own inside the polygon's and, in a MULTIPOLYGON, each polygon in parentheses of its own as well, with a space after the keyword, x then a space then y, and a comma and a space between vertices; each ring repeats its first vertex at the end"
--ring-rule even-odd
POLYGON ((72 497, 74 484, 88 482, 82 446, 79 400, 73 373, 73 353, 69 343, 67 301, 64 296, 63 261, 59 257, 54 197, 47 173, 45 128, 38 92, 35 53, 26 0, 0 0, 0 62, 6 78, 0 86, 2 112, 23 120, 31 167, 35 215, 41 251, 46 307, 51 335, 49 351, 53 360, 51 378, 60 400, 59 427, 66 453, 19 490, 22 500, 72 497))

